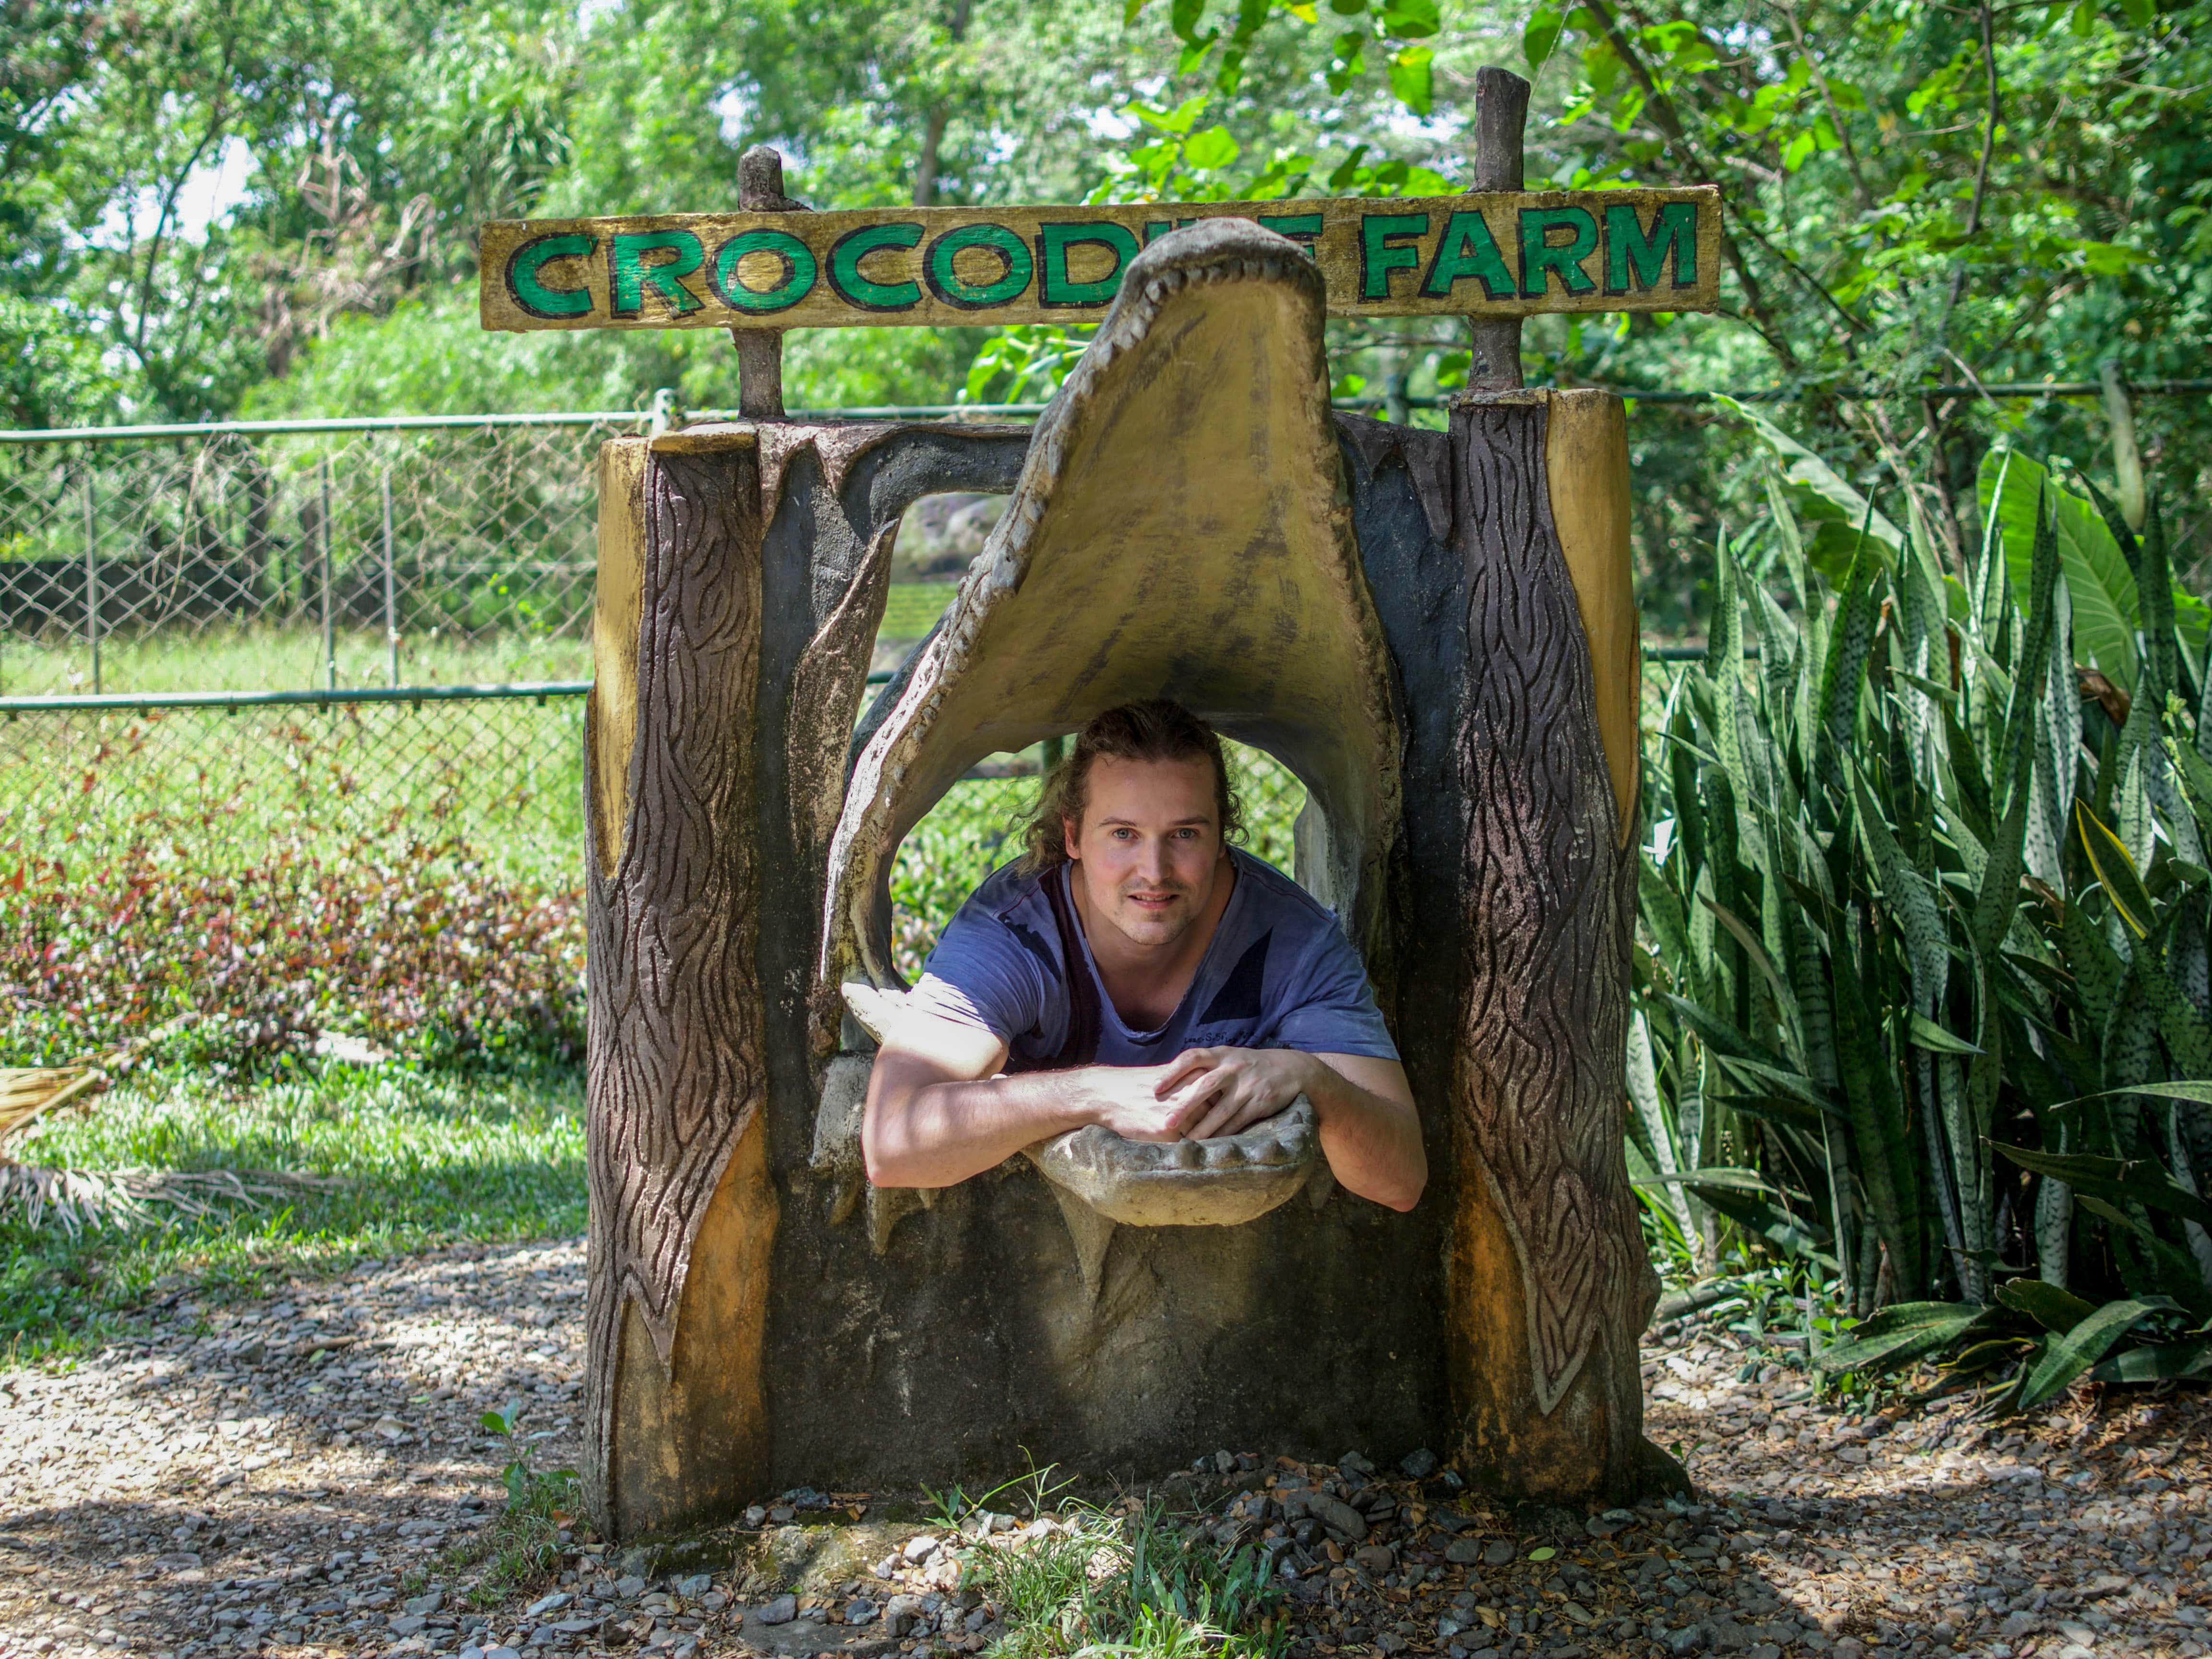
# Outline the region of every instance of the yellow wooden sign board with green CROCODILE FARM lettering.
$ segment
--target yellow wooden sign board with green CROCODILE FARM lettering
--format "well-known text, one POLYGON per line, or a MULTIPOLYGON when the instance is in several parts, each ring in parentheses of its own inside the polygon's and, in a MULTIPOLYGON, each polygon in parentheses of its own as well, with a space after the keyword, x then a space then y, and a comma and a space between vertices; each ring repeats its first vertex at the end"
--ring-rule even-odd
POLYGON ((1710 312, 1721 192, 1511 190, 1088 208, 869 208, 500 219, 482 321, 540 327, 907 327, 1097 319, 1155 237, 1256 219, 1321 265, 1336 316, 1710 312))

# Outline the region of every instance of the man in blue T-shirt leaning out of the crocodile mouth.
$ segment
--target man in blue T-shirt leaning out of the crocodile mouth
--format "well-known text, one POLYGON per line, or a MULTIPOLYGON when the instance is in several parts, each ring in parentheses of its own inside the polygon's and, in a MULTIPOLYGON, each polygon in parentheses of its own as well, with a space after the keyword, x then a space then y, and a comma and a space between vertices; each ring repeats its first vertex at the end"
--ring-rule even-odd
POLYGON ((867 1179, 951 1186, 1086 1124, 1237 1135, 1305 1095, 1336 1179, 1411 1210, 1429 1164, 1360 958, 1234 832, 1221 739, 1190 710, 1084 726, 1029 854, 969 896, 885 1033, 867 1179))

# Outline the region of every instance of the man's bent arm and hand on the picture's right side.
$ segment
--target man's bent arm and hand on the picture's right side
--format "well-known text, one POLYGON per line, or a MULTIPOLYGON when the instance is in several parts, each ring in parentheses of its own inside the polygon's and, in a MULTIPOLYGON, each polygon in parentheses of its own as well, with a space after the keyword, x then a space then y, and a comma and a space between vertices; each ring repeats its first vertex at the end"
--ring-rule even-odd
POLYGON ((1305 1095, 1321 1119, 1321 1152, 1345 1188, 1411 1210, 1429 1183, 1413 1088, 1396 1060, 1190 1048, 1166 1068, 1159 1091, 1175 1104, 1170 1126, 1190 1139, 1237 1135, 1305 1095))

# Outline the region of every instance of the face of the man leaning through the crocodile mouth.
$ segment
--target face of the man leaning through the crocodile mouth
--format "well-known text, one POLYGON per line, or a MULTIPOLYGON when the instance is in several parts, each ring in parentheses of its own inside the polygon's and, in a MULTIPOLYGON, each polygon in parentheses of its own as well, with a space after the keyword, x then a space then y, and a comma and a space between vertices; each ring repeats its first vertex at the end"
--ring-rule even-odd
POLYGON ((1102 754, 1088 794, 1082 825, 1062 821, 1062 834, 1091 914, 1137 945, 1172 945, 1206 914, 1221 876, 1212 761, 1102 754))

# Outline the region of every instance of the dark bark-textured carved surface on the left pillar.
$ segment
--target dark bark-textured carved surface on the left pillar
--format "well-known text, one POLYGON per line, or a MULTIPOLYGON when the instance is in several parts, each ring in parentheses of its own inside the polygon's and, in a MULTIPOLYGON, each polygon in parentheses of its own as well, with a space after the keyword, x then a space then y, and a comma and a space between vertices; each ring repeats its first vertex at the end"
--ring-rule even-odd
MULTIPOLYGON (((750 453, 655 456, 644 489, 628 832, 611 874, 597 845, 586 858, 595 1484, 613 1440, 624 1307, 637 1303, 668 1371, 692 1239, 765 1095, 752 836, 757 469, 750 453)), ((593 772, 606 763, 619 761, 591 757, 593 772)))

